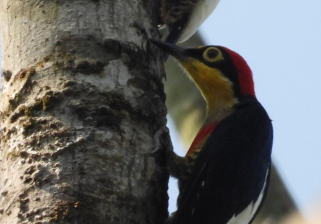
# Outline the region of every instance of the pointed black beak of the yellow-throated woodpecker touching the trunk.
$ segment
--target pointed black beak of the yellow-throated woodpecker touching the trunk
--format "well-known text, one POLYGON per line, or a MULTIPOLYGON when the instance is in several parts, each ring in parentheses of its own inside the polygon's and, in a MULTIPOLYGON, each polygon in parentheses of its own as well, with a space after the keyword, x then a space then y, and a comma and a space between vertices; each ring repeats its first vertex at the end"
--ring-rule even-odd
POLYGON ((167 60, 168 54, 172 55, 176 59, 188 57, 188 54, 184 48, 180 48, 180 47, 177 47, 176 45, 173 45, 164 41, 156 40, 156 39, 149 39, 149 41, 155 44, 160 49, 162 49, 164 52, 166 52, 164 54, 164 61, 167 60))

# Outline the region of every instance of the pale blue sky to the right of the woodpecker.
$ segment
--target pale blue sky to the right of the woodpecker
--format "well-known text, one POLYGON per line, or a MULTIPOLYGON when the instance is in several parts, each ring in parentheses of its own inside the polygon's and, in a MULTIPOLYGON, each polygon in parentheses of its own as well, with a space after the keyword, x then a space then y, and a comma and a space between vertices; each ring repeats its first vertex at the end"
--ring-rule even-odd
POLYGON ((200 32, 253 70, 273 120, 273 161, 309 216, 321 200, 321 1, 221 0, 200 32))

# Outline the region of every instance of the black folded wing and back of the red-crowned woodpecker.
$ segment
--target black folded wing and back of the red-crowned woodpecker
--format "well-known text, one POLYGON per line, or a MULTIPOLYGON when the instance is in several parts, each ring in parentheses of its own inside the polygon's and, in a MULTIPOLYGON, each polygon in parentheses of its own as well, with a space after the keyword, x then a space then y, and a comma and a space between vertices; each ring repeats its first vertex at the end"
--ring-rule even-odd
POLYGON ((272 141, 271 120, 261 104, 252 99, 238 106, 198 155, 173 224, 226 224, 256 201, 270 168, 272 141))

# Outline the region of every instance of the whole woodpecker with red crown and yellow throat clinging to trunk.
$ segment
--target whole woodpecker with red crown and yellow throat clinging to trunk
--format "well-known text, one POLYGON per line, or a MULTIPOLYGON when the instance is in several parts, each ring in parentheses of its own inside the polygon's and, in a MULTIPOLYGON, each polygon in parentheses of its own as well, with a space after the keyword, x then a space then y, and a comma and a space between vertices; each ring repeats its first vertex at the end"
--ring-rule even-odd
POLYGON ((204 124, 187 155, 169 155, 179 197, 167 223, 251 224, 268 189, 273 142, 251 69, 222 46, 182 49, 151 41, 177 59, 207 103, 204 124))

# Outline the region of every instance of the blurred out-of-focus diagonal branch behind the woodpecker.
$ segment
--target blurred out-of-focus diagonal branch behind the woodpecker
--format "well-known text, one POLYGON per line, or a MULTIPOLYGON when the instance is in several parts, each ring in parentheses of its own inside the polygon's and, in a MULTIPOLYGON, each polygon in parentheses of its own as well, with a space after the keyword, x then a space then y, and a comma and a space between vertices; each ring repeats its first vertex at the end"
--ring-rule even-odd
MULTIPOLYGON (((195 34, 183 44, 183 47, 200 45, 204 45, 204 42, 198 34, 195 34)), ((189 146, 202 125, 206 104, 199 90, 186 75, 182 74, 181 69, 171 57, 166 63, 166 74, 167 108, 183 141, 189 146)), ((294 212, 297 212, 297 207, 273 166, 268 194, 254 224, 278 224, 294 212)))

